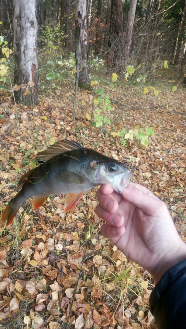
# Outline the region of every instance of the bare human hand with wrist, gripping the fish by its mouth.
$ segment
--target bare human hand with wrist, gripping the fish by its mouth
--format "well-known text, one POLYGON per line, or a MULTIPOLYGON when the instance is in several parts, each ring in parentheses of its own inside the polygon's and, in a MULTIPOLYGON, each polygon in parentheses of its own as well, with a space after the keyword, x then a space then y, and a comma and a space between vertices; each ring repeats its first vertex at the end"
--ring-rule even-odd
POLYGON ((155 283, 186 258, 186 245, 165 203, 142 185, 130 182, 122 195, 102 185, 97 199, 96 214, 107 222, 101 234, 152 273, 155 283))

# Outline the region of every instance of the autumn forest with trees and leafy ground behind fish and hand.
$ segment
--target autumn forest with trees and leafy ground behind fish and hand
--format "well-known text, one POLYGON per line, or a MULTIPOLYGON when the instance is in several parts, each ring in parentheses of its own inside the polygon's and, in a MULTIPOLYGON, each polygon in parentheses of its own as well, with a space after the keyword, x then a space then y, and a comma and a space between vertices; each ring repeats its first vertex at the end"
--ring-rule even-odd
MULTIPOLYGON (((184 0, 0 0, 1 213, 68 138, 124 162, 186 240, 185 18, 184 0)), ((100 235, 95 194, 2 227, 0 328, 156 328, 153 278, 100 235)))

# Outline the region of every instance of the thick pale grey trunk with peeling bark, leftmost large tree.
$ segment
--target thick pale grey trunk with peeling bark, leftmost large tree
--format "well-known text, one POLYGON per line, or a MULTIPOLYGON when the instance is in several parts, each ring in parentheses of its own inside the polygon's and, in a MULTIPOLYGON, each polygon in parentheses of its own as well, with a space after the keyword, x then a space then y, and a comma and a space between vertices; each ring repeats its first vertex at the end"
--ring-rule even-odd
POLYGON ((13 0, 15 70, 14 97, 24 105, 38 104, 36 0, 13 0))

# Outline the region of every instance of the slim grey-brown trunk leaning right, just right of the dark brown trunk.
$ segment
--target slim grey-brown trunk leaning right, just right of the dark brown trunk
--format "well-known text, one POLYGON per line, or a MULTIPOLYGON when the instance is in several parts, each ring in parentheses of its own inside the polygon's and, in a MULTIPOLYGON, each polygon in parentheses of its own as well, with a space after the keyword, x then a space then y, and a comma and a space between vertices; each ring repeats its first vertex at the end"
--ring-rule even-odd
POLYGON ((128 20, 127 20, 126 34, 125 34, 124 51, 123 51, 123 54, 124 54, 124 61, 123 61, 124 68, 126 68, 127 63, 128 63, 128 56, 129 56, 129 51, 130 51, 130 47, 131 47, 131 40, 132 40, 132 34, 133 34, 136 4, 137 4, 137 0, 131 0, 129 16, 128 16, 128 20))

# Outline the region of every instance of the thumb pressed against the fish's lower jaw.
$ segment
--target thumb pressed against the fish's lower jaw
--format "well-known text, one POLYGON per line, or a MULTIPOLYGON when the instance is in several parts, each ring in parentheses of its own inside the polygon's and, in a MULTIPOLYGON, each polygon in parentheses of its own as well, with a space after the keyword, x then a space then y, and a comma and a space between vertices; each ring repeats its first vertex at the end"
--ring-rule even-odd
MULTIPOLYGON (((138 186, 136 184, 136 186, 138 186)), ((143 187, 142 187, 143 188, 143 187)), ((156 198, 148 189, 137 188, 133 185, 128 185, 123 191, 122 196, 125 200, 133 203, 148 215, 162 214, 162 205, 164 203, 156 198)))

